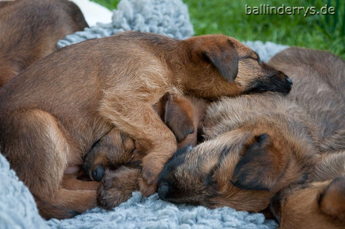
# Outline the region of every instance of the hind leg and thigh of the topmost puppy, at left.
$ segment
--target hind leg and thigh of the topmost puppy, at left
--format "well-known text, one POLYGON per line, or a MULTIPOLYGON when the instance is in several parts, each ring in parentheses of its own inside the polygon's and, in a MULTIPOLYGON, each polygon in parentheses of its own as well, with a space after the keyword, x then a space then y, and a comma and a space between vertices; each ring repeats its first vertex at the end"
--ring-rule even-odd
POLYGON ((39 201, 42 216, 70 217, 97 206, 96 191, 62 188, 67 155, 72 152, 50 113, 38 109, 18 111, 16 116, 2 119, 0 126, 5 126, 0 133, 4 140, 2 152, 39 201))

